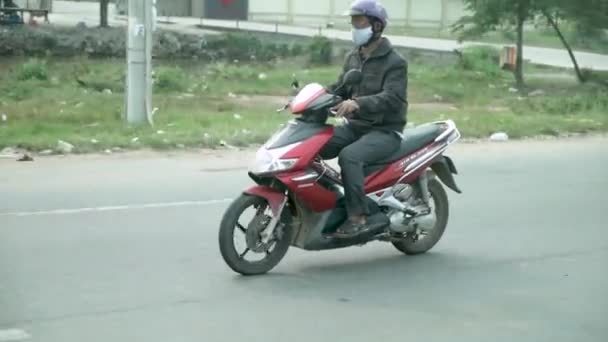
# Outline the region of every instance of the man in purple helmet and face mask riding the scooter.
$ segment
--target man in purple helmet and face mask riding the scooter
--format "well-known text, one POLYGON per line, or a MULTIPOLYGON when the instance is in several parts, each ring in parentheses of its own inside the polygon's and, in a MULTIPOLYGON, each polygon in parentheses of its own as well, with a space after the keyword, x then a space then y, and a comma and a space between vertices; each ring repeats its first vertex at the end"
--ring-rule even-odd
POLYGON ((336 127, 321 151, 323 159, 338 157, 349 219, 336 237, 349 238, 388 224, 381 213, 371 214, 364 191, 364 165, 392 155, 401 144, 406 125, 407 62, 382 36, 387 13, 375 0, 356 0, 346 13, 351 17, 355 48, 344 63, 338 81, 328 90, 347 100, 334 108, 347 124, 336 127), (344 73, 359 69, 362 82, 339 87, 344 73))

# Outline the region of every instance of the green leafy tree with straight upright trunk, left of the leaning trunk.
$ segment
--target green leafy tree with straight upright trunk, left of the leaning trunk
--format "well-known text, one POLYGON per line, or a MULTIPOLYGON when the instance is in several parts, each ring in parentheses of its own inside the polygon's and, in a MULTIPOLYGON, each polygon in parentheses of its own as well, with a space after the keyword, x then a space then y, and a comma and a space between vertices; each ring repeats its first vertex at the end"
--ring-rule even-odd
POLYGON ((534 15, 534 0, 464 0, 470 16, 461 18, 454 31, 460 39, 479 37, 487 32, 515 29, 517 32, 517 87, 525 86, 523 74, 524 24, 534 15))

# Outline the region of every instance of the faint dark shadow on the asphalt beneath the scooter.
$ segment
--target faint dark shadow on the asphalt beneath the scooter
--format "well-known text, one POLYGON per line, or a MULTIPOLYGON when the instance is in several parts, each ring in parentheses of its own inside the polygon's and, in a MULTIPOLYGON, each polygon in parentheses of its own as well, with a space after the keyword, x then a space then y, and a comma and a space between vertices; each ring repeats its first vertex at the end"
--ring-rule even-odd
MULTIPOLYGON (((399 294, 407 291, 425 292, 447 283, 466 283, 470 266, 479 261, 468 256, 448 253, 429 253, 419 256, 388 255, 362 259, 357 256, 339 262, 318 259, 305 265, 284 265, 257 277, 236 276, 237 287, 271 296, 311 297, 350 301, 349 296, 366 298, 399 294), (286 269, 294 273, 286 273, 286 269), (460 280, 460 281, 459 281, 460 280)), ((289 264, 289 262, 287 262, 289 264)))

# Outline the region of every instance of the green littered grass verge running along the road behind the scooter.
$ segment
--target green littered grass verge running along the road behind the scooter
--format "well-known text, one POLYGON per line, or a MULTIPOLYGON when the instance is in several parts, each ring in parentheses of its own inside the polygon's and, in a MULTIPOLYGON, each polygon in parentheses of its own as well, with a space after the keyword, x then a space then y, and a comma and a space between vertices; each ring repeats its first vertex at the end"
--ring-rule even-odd
MULTIPOLYGON (((509 90, 509 73, 492 69, 491 52, 466 56, 456 66, 410 65, 410 103, 427 108, 411 110, 410 122, 453 119, 470 138, 497 131, 513 138, 608 131, 605 88, 541 77, 529 84, 543 93, 522 97, 509 90)), ((0 114, 8 116, 0 122, 0 148, 54 149, 59 139, 74 144, 76 152, 262 143, 291 118, 275 112, 282 99, 246 102, 237 97, 287 98, 294 77, 302 84, 329 84, 341 68, 301 65, 156 63, 155 126, 132 127, 122 122, 122 60, 13 60, 0 64, 0 114), (46 77, 38 77, 41 65, 46 77)))

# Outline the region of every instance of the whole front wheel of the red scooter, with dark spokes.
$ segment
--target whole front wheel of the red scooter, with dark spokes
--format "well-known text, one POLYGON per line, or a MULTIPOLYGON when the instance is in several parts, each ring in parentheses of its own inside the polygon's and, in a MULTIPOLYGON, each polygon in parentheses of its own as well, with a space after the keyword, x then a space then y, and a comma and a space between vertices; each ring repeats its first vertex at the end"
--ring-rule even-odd
MULTIPOLYGON (((283 215, 268 243, 261 236, 272 219, 272 212, 266 199, 242 194, 235 199, 222 218, 219 230, 219 247, 222 258, 235 272, 242 275, 260 275, 272 270, 285 256, 291 245, 293 228, 285 208, 283 215), (254 209, 251 220, 242 219, 245 212, 254 209), (238 250, 235 238, 245 238, 245 248, 238 250), (261 257, 247 260, 248 256, 261 257)), ((245 215, 247 216, 247 215, 245 215)))

